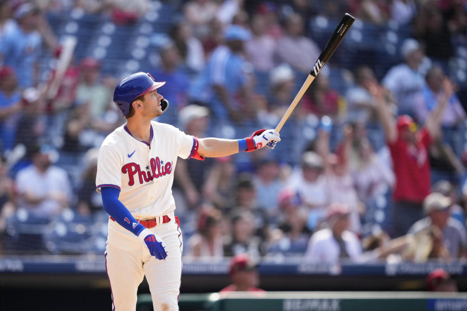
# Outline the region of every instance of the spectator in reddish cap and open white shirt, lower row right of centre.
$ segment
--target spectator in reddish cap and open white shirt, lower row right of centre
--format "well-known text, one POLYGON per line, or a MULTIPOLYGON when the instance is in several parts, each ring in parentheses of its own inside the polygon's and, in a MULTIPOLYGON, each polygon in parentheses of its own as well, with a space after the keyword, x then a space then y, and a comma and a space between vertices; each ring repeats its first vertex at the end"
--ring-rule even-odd
POLYGON ((349 215, 349 208, 342 204, 331 204, 327 208, 329 227, 313 233, 305 252, 305 261, 336 263, 359 260, 361 244, 358 236, 347 230, 349 215))

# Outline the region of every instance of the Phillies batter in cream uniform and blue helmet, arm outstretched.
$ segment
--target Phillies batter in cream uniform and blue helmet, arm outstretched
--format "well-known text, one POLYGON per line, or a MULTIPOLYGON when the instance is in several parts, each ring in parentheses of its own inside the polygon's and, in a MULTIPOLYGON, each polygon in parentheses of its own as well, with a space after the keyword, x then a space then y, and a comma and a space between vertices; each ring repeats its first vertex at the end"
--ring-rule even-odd
POLYGON ((127 119, 99 150, 96 187, 110 215, 106 268, 112 310, 136 309, 138 285, 146 276, 155 311, 177 311, 183 242, 174 214, 172 183, 177 158, 220 157, 280 141, 273 130, 238 140, 196 138, 152 121, 167 108, 157 92, 165 82, 149 73, 127 76, 113 101, 127 119))

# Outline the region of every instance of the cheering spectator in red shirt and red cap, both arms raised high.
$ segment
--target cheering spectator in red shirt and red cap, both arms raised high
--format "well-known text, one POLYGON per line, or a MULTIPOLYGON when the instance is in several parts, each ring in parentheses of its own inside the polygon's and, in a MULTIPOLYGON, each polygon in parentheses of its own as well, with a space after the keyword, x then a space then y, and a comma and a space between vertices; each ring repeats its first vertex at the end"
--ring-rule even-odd
POLYGON ((438 100, 421 129, 407 115, 393 117, 384 100, 384 90, 377 85, 370 92, 377 101, 386 143, 391 151, 395 173, 393 236, 405 234, 410 226, 423 218, 423 199, 430 194, 431 175, 428 148, 441 136, 444 109, 454 92, 453 84, 443 81, 444 94, 438 100))

